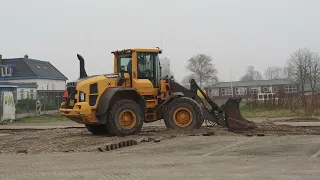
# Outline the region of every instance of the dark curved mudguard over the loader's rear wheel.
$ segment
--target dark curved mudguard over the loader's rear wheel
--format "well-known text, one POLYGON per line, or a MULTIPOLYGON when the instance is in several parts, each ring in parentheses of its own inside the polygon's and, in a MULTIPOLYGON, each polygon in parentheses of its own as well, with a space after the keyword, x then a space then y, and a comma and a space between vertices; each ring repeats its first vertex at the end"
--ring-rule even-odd
POLYGON ((134 98, 136 102, 141 107, 141 110, 145 113, 146 112, 146 103, 141 97, 141 95, 137 92, 134 88, 108 88, 106 89, 98 102, 98 106, 96 109, 96 116, 101 124, 106 123, 107 111, 110 106, 110 103, 114 98, 134 98), (121 96, 121 97, 120 97, 121 96))

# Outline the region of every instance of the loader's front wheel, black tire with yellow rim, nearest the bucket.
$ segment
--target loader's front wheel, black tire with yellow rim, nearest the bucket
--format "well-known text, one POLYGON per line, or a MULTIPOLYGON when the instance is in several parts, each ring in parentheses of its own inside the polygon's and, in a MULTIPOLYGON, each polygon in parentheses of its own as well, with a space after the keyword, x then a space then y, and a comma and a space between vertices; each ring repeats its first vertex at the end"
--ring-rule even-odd
POLYGON ((164 123, 169 129, 199 129, 203 122, 199 104, 188 97, 172 100, 164 112, 164 123))

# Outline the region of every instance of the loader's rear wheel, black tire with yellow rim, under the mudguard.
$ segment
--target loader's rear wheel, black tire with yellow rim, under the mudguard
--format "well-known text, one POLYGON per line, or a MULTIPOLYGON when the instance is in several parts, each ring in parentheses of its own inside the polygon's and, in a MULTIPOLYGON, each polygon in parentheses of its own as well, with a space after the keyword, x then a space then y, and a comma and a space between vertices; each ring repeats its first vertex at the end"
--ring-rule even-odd
POLYGON ((126 136, 140 132, 144 114, 133 100, 123 99, 108 110, 106 127, 111 135, 126 136))

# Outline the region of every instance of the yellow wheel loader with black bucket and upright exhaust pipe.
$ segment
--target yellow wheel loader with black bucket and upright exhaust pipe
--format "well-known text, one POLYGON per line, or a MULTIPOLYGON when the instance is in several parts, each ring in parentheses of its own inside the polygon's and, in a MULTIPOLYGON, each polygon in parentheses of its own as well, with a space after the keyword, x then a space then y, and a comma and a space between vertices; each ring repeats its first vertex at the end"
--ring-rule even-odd
POLYGON ((60 114, 84 124, 92 134, 115 136, 136 134, 143 123, 161 119, 171 129, 197 129, 204 120, 230 130, 256 127, 241 116, 241 99, 230 98, 218 107, 194 79, 187 89, 172 77, 162 77, 161 52, 159 48, 114 51, 114 72, 95 76, 87 75, 78 54, 80 78, 67 83, 60 114))

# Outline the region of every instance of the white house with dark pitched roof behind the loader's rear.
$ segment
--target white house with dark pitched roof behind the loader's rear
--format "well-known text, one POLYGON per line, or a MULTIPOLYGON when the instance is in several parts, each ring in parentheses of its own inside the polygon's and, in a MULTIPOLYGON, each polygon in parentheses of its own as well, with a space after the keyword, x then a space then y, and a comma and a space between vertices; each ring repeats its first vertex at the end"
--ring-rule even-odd
POLYGON ((8 85, 16 100, 54 100, 62 96, 67 78, 48 61, 23 58, 2 59, 0 55, 0 90, 8 85))

